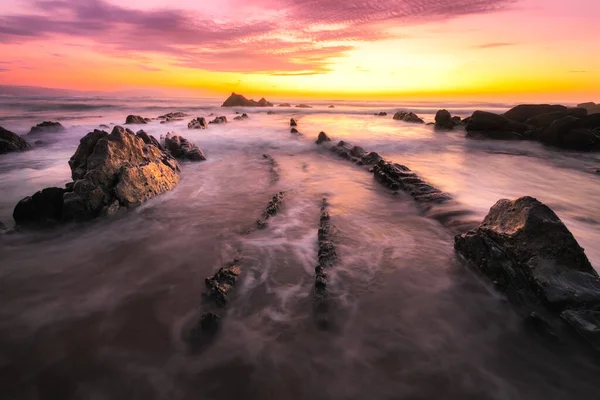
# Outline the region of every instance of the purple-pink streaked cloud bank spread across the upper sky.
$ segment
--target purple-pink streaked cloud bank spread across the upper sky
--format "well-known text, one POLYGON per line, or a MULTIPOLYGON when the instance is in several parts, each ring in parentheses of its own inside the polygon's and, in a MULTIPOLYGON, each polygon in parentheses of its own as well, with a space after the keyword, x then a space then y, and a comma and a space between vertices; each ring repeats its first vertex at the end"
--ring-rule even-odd
MULTIPOLYGON (((391 37, 388 26, 493 12, 517 0, 252 0, 278 17, 220 23, 190 11, 136 10, 105 0, 30 1, 35 13, 0 16, 0 44, 71 36, 116 57, 160 53, 188 68, 290 75, 323 73, 356 42, 391 37)), ((248 6, 238 1, 234 6, 248 6)))

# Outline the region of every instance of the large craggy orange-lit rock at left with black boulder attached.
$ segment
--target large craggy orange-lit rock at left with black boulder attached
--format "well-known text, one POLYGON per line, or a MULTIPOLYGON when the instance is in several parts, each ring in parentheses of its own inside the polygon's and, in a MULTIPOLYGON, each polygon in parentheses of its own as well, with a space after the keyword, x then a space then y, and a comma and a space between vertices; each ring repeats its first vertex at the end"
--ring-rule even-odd
POLYGON ((172 189, 179 182, 179 164, 142 137, 120 126, 110 134, 88 133, 69 160, 73 182, 21 200, 13 212, 17 225, 49 226, 111 215, 172 189))

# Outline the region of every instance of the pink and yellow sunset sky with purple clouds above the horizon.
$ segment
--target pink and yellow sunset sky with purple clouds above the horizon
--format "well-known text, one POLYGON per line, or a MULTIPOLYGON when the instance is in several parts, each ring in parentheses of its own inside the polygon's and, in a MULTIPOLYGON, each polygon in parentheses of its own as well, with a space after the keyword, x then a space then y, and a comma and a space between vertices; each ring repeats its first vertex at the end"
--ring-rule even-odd
POLYGON ((1 0, 0 85, 600 101, 599 0, 1 0))

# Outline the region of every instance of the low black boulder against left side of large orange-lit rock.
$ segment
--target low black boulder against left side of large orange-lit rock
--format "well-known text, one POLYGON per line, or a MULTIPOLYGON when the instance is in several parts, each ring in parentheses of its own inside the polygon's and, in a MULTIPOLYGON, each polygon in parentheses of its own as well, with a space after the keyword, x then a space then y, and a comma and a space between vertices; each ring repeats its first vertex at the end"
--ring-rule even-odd
POLYGON ((51 187, 27 196, 15 207, 13 218, 19 226, 52 226, 63 218, 66 189, 51 187))

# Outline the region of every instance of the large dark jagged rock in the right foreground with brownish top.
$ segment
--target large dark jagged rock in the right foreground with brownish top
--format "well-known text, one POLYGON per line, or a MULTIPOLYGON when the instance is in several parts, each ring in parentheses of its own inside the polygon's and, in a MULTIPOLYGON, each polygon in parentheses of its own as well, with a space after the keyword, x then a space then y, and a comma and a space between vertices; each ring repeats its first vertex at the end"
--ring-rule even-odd
MULTIPOLYGON (((532 197, 500 200, 455 249, 524 315, 542 309, 600 345, 600 279, 560 218, 532 197)), ((552 321, 548 326, 556 326, 552 321)))

